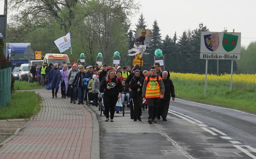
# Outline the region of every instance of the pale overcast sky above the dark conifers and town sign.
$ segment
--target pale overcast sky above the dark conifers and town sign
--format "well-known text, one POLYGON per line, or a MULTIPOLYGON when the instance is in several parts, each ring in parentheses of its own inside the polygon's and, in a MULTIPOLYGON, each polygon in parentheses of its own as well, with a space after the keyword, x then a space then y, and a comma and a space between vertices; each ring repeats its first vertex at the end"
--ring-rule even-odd
MULTIPOLYGON (((211 32, 241 32, 241 45, 256 40, 256 1, 243 0, 135 0, 140 10, 131 18, 133 28, 143 13, 147 28, 152 29, 157 20, 161 36, 180 37, 184 30, 194 30, 199 23, 206 25, 211 32)), ((3 14, 4 0, 0 0, 0 14, 3 14)), ((10 12, 10 11, 8 11, 10 12)))

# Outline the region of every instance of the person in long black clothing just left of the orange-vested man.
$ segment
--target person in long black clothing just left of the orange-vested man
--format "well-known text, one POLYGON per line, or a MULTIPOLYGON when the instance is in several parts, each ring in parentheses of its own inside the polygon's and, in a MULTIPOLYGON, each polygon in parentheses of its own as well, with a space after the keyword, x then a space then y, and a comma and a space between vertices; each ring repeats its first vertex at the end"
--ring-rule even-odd
POLYGON ((134 72, 134 76, 131 79, 130 83, 130 110, 131 110, 131 119, 133 121, 141 121, 141 109, 142 109, 142 87, 144 83, 144 78, 140 74, 140 70, 134 72))

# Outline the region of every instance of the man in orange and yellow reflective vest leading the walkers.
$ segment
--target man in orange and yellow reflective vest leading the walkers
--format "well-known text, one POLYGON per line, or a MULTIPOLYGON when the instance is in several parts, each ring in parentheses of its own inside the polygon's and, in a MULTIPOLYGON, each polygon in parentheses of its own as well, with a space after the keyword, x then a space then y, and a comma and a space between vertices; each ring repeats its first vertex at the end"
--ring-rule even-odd
POLYGON ((156 75, 155 66, 150 67, 150 75, 145 78, 143 88, 142 88, 142 97, 143 101, 147 99, 148 103, 148 123, 156 123, 156 111, 160 99, 163 99, 165 96, 165 85, 160 76, 156 75))

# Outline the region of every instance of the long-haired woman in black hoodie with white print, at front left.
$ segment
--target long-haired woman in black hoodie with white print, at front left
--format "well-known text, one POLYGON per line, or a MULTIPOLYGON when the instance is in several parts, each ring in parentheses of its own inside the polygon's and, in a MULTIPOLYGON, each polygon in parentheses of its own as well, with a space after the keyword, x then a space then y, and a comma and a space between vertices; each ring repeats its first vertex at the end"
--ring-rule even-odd
POLYGON ((98 93, 98 98, 100 98, 101 92, 103 94, 103 104, 105 108, 105 122, 109 121, 109 111, 110 111, 110 121, 114 122, 115 105, 123 91, 122 82, 117 78, 115 71, 112 69, 103 78, 100 84, 100 91, 98 93))

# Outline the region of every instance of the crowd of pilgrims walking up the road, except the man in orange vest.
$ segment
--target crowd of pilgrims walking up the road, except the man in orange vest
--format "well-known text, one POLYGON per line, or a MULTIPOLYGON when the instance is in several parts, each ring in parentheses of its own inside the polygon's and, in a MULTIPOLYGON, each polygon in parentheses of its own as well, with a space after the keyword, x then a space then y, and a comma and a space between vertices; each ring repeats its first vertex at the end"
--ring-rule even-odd
MULTIPOLYGON (((163 99, 159 98, 154 119, 167 121, 170 99, 175 98, 174 86, 169 71, 163 70, 159 63, 155 63, 154 67, 156 76, 160 76, 165 85, 165 95, 163 99)), ((40 70, 39 66, 38 74, 40 70)), ((76 101, 77 104, 84 104, 88 98, 90 104, 98 107, 103 93, 106 122, 109 121, 109 112, 113 122, 115 106, 122 106, 124 102, 126 107, 130 107, 131 119, 141 121, 142 111, 148 109, 147 100, 142 101, 143 83, 147 76, 150 76, 150 71, 142 71, 139 65, 131 69, 130 66, 120 67, 118 64, 111 67, 97 63, 94 66, 84 66, 80 62, 73 65, 56 63, 48 65, 46 80, 38 82, 47 90, 52 90, 52 98, 60 98, 57 93, 61 92, 61 98, 70 98, 73 104, 76 101)))

